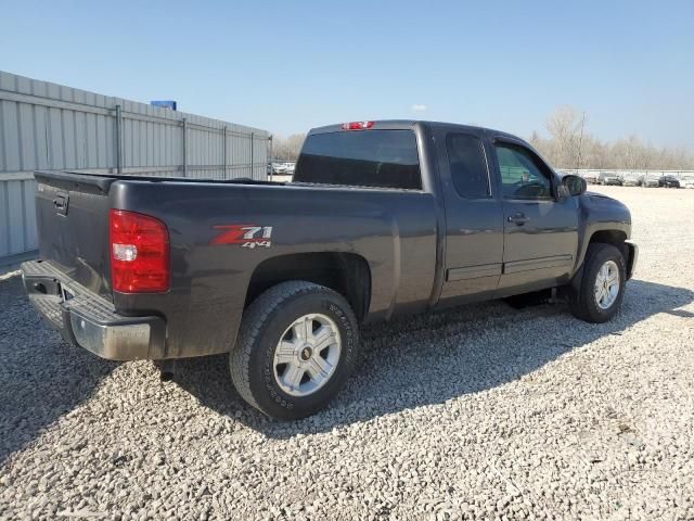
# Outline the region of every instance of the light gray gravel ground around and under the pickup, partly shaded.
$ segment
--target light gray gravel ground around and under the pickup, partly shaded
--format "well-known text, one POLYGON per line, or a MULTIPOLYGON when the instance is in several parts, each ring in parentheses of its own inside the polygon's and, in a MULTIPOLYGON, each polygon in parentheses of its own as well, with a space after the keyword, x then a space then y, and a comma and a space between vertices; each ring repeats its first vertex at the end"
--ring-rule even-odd
POLYGON ((641 245, 606 325, 501 302, 364 331, 307 420, 223 356, 115 364, 0 282, 3 519, 694 519, 694 190, 604 187, 641 245))

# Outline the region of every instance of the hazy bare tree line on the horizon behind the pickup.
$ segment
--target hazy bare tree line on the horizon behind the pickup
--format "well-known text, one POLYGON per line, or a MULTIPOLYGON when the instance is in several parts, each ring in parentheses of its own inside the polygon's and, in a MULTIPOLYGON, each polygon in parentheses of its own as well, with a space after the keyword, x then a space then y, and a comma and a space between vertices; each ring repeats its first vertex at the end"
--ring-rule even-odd
MULTIPOLYGON (((694 154, 684 148, 654 147, 637 136, 614 142, 588 132, 588 116, 571 106, 560 106, 547 119, 549 138, 534 131, 528 141, 557 168, 686 170, 694 169, 694 154)), ((272 157, 296 161, 305 134, 274 136, 272 157)))

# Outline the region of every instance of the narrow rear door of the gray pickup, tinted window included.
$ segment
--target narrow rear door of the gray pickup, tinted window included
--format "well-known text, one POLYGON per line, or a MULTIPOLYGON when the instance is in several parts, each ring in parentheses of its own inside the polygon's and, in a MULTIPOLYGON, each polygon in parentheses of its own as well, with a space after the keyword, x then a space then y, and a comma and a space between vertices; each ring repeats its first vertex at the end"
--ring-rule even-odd
POLYGON ((491 182, 483 141, 474 134, 439 129, 438 168, 446 204, 445 279, 439 302, 491 296, 501 276, 503 211, 491 182))

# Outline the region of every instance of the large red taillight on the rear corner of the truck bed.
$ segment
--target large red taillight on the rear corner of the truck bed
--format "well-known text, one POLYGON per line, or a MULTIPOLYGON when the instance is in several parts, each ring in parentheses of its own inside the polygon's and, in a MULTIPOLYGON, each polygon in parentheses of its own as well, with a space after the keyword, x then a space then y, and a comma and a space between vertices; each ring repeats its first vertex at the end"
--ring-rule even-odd
POLYGON ((120 293, 169 289, 169 231, 159 219, 112 209, 111 284, 120 293))

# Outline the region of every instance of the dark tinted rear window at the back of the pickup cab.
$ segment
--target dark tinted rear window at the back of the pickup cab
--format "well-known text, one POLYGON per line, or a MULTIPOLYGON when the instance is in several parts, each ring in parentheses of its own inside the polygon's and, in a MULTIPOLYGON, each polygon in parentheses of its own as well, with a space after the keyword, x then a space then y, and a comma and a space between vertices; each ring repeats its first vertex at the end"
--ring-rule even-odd
POLYGON ((308 136, 294 180, 421 190, 414 132, 354 130, 308 136))

